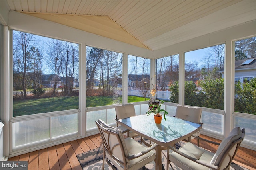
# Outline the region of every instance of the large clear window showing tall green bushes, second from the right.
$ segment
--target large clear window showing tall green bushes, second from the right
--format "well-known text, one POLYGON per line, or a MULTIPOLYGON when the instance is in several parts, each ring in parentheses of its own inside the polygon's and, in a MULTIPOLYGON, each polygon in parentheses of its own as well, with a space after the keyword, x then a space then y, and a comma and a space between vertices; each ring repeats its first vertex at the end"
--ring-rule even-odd
POLYGON ((222 44, 185 53, 186 105, 224 109, 224 49, 222 44))

